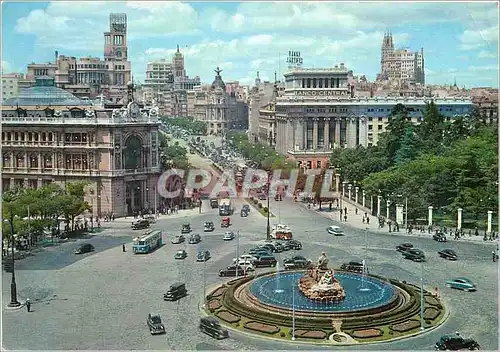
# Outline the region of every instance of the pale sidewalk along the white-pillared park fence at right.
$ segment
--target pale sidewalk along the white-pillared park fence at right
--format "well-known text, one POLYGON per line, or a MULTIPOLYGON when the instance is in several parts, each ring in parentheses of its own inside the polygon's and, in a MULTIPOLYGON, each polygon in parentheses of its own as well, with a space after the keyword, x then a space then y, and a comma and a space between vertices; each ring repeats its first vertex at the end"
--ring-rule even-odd
MULTIPOLYGON (((301 203, 304 207, 307 208, 307 203, 301 203)), ((336 222, 341 222, 342 225, 346 225, 348 227, 353 227, 359 230, 365 230, 367 229, 369 232, 372 233, 383 233, 383 234, 388 234, 388 235, 394 235, 394 236, 406 236, 406 237, 429 237, 432 238, 432 233, 429 234, 427 231, 425 232, 420 232, 413 230, 413 233, 410 235, 406 232, 406 229, 403 227, 399 228, 399 232, 389 232, 389 227, 387 226, 387 223, 384 225, 383 228, 378 227, 378 219, 376 216, 373 216, 370 214, 368 209, 364 209, 363 207, 357 207, 358 208, 358 214, 356 214, 356 206, 354 205, 354 202, 347 200, 345 197, 342 197, 342 202, 340 202, 339 199, 339 208, 340 204, 342 204, 342 209, 347 208, 347 222, 344 222, 344 214, 342 214, 342 220, 340 220, 340 209, 338 209, 335 205, 336 202, 334 202, 334 206, 332 210, 330 211, 329 209, 329 203, 323 203, 322 204, 322 210, 319 210, 319 205, 317 204, 316 206, 312 207, 311 206, 311 211, 315 211, 318 214, 332 219, 336 222), (367 212, 368 217, 370 218, 370 223, 367 224, 366 222, 363 223, 363 216, 365 214, 365 211, 367 212)), ((484 243, 484 244, 491 244, 494 245, 498 242, 497 241, 483 241, 483 236, 470 236, 465 235, 464 237, 461 237, 458 240, 454 239, 454 236, 447 235, 446 236, 449 241, 459 241, 459 242, 478 242, 478 243, 484 243)))

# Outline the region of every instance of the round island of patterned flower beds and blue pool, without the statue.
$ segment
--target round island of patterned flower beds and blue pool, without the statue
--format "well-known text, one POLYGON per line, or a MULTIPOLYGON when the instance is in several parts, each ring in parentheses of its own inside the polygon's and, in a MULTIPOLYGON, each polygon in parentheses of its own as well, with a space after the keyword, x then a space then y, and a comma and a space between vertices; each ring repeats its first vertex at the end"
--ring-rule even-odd
POLYGON ((419 335, 443 324, 448 317, 442 302, 424 291, 422 330, 420 287, 371 274, 335 273, 346 290, 341 304, 309 302, 299 296, 296 283, 304 271, 267 272, 217 287, 207 296, 203 312, 217 317, 229 329, 261 338, 344 346, 419 335), (356 282, 364 291, 357 291, 356 282), (294 306, 290 303, 292 296, 294 306))

